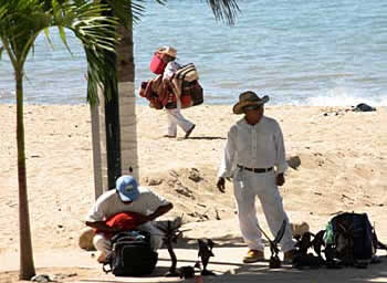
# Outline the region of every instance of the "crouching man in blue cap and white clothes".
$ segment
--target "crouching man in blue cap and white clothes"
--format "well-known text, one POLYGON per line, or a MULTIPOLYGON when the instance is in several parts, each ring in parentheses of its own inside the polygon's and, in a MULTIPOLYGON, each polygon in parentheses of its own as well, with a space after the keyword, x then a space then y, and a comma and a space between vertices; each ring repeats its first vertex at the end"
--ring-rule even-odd
POLYGON ((111 226, 107 220, 122 212, 134 212, 136 229, 150 233, 150 244, 156 251, 163 245, 163 232, 153 220, 172 209, 172 203, 138 186, 132 176, 122 176, 116 188, 101 195, 86 217, 86 226, 96 229, 93 244, 100 252, 97 261, 104 263, 112 251, 111 235, 125 231, 123 226, 111 226))

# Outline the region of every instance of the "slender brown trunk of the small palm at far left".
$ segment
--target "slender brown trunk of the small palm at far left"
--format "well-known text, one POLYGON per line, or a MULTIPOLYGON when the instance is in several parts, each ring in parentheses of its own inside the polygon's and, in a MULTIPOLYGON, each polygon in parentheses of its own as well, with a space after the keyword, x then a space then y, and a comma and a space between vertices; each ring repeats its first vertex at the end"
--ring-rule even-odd
POLYGON ((23 70, 15 69, 17 81, 17 142, 19 178, 19 232, 20 232, 20 280, 30 280, 35 275, 33 264, 29 202, 27 192, 24 122, 23 122, 23 70))

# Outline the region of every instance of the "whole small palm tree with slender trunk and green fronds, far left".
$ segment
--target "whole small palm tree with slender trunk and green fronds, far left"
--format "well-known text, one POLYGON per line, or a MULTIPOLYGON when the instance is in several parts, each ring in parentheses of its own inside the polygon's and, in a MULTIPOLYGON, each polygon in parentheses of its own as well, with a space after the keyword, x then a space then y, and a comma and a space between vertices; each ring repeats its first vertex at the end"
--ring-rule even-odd
MULTIPOLYGON (((49 42, 49 28, 57 27, 64 45, 65 29, 72 31, 84 46, 87 59, 88 99, 95 102, 98 85, 115 75, 112 62, 104 61, 104 53, 114 52, 115 27, 104 4, 86 0, 0 0, 0 59, 6 51, 14 70, 17 96, 17 144, 19 179, 20 272, 21 280, 35 274, 29 220, 25 174, 23 75, 25 60, 36 36, 44 31, 49 42)), ((70 50, 69 50, 70 51, 70 50)))

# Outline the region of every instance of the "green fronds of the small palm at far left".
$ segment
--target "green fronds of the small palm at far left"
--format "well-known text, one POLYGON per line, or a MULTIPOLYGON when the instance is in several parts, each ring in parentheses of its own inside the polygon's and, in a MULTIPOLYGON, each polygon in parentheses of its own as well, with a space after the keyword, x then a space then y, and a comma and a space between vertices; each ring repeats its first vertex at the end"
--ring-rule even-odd
POLYGON ((98 85, 112 80, 115 72, 114 63, 106 61, 105 55, 115 52, 118 20, 103 15, 108 11, 107 4, 87 0, 0 0, 0 55, 6 50, 13 67, 23 71, 27 56, 42 31, 52 44, 49 28, 56 27, 64 46, 71 52, 65 35, 65 30, 71 30, 86 53, 88 98, 94 102, 98 85))

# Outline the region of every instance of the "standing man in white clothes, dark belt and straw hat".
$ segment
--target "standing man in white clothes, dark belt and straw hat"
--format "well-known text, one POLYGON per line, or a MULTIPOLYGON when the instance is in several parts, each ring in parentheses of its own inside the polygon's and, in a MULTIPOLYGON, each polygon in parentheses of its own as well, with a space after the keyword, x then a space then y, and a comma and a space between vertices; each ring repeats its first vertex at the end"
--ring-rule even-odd
POLYGON ((249 247, 244 263, 264 260, 255 196, 261 201, 272 234, 275 235, 286 220, 281 250, 284 261, 291 261, 294 254, 291 227, 278 188, 285 182, 284 171, 287 168, 284 142, 278 122, 263 115, 263 104, 268 101, 268 96, 260 98, 250 91, 240 94, 232 111, 244 114, 244 117, 230 128, 218 171, 217 187, 221 192, 224 192, 224 178, 233 179, 239 226, 249 247))

